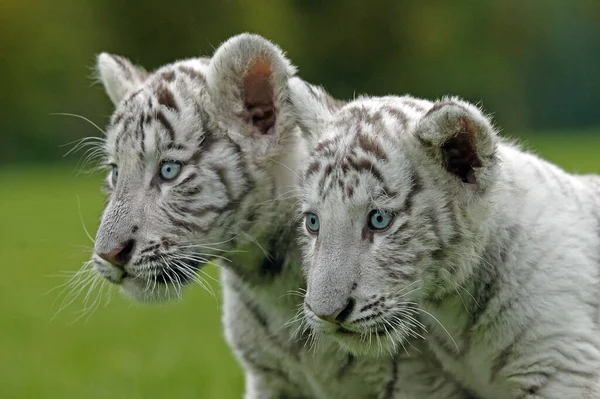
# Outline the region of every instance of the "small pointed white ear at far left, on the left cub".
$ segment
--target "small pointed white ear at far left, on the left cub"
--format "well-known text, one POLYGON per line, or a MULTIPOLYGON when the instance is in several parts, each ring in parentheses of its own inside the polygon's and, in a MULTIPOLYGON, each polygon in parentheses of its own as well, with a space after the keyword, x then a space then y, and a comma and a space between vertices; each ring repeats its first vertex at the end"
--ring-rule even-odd
POLYGON ((118 55, 101 53, 96 59, 98 80, 114 105, 119 104, 127 93, 142 85, 148 72, 118 55))

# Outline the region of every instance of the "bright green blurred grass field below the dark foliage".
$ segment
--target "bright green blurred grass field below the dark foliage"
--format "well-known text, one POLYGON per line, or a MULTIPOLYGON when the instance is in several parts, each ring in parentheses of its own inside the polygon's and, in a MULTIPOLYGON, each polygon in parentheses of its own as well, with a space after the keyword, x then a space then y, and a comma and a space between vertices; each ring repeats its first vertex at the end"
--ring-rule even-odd
MULTIPOLYGON (((524 137, 569 171, 600 172, 600 133, 524 137)), ((53 318, 60 289, 47 292, 88 259, 81 219, 93 234, 100 179, 64 167, 0 171, 0 398, 240 398, 220 300, 200 287, 162 306, 132 304, 113 290, 87 318, 77 320, 83 298, 53 318)))

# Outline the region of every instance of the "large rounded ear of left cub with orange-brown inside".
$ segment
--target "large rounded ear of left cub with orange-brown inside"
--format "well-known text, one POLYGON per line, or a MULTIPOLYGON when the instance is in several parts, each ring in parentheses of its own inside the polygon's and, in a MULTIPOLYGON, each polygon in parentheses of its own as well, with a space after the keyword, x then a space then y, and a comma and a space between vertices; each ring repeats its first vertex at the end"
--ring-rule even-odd
POLYGON ((221 122, 234 127, 228 129, 234 140, 261 154, 276 148, 295 126, 288 87, 295 72, 283 51, 258 35, 235 36, 217 49, 207 84, 221 122))

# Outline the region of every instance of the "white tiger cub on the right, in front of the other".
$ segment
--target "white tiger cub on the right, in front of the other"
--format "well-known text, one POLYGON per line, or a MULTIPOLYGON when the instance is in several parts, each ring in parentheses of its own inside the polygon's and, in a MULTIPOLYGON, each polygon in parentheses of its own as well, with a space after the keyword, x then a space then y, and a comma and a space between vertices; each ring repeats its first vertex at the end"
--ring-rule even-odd
POLYGON ((320 139, 302 193, 314 331, 351 353, 424 334, 481 398, 600 398, 600 177, 457 98, 299 109, 320 139))

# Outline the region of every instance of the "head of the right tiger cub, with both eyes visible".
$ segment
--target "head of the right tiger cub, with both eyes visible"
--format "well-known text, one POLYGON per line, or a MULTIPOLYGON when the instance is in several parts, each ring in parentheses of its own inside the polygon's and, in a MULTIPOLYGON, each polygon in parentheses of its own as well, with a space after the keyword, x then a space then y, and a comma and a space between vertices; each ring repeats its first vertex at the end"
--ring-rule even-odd
POLYGON ((472 273, 496 189, 496 132, 457 98, 299 109, 320 138, 301 193, 305 321, 354 353, 395 353, 422 336, 420 304, 472 273))

